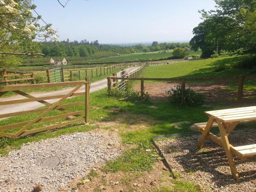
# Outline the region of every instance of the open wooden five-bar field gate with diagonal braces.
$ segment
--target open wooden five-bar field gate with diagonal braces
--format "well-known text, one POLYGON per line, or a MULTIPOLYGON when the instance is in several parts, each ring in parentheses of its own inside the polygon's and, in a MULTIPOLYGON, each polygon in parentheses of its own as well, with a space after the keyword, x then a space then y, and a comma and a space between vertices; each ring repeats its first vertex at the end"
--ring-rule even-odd
POLYGON ((17 138, 17 137, 26 136, 26 135, 33 134, 33 133, 56 129, 56 128, 63 127, 66 125, 71 125, 71 124, 76 124, 76 123, 81 123, 81 122, 86 122, 86 123, 89 122, 89 92, 90 92, 89 78, 87 78, 87 81, 5 86, 5 87, 1 87, 1 89, 0 89, 0 97, 8 92, 14 92, 16 94, 22 95, 27 98, 26 99, 0 101, 0 105, 7 105, 6 107, 8 107, 9 104, 27 103, 27 102, 37 101, 39 103, 46 105, 46 107, 38 108, 38 109, 34 109, 34 110, 1 114, 0 118, 7 118, 7 117, 15 117, 15 116, 19 116, 19 115, 26 115, 26 114, 42 112, 33 120, 0 126, 0 136, 2 136, 2 137, 17 138), (84 86, 84 85, 85 85, 85 89, 82 92, 77 93, 77 91, 80 88, 82 88, 82 86, 84 86), (61 87, 61 86, 76 86, 76 87, 72 88, 72 90, 66 94, 43 96, 43 97, 40 97, 40 96, 34 97, 34 96, 24 92, 24 90, 28 90, 28 89, 33 90, 33 89, 44 89, 44 88, 49 88, 49 87, 52 88, 52 87, 61 87), (65 101, 66 99, 68 99, 70 97, 82 96, 82 95, 85 95, 85 101, 62 104, 63 101, 65 101), (46 101, 46 100, 50 100, 50 99, 59 99, 59 100, 54 103, 50 103, 50 102, 46 101), (78 105, 85 105, 85 109, 82 111, 75 111, 75 112, 71 112, 71 111, 67 110, 67 108, 69 108, 69 107, 78 106, 78 105), (53 110, 61 111, 63 114, 45 117, 47 114, 49 114, 53 110), (84 114, 84 117, 83 117, 83 114, 84 114), (71 120, 67 120, 64 122, 58 122, 55 124, 50 124, 47 126, 36 128, 36 129, 31 128, 32 125, 39 123, 39 122, 48 122, 51 120, 70 117, 70 116, 73 116, 72 118, 69 118, 71 120), (12 129, 18 130, 18 131, 13 132, 12 129), (7 131, 3 132, 4 130, 7 130, 7 131))

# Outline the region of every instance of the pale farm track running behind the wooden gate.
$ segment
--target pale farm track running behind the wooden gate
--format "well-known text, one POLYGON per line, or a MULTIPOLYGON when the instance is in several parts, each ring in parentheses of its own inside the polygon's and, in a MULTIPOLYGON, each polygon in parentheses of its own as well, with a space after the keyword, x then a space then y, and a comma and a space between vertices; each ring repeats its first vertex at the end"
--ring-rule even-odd
MULTIPOLYGON (((126 73, 131 73, 135 70, 137 70, 139 67, 132 67, 129 69, 126 69, 126 73)), ((104 89, 108 87, 107 85, 108 80, 106 78, 91 83, 90 93, 99 91, 101 89, 104 89)), ((73 88, 67 88, 59 91, 53 91, 53 92, 47 92, 47 93, 32 93, 30 95, 33 95, 34 97, 46 97, 46 96, 53 96, 53 95, 62 95, 69 93, 73 88)), ((84 86, 81 87, 76 93, 84 91, 84 86)), ((8 100, 16 100, 16 99, 24 99, 23 96, 17 95, 13 97, 8 98, 1 98, 1 101, 8 101, 8 100)), ((59 99, 50 99, 46 100, 47 102, 53 103, 56 102, 59 99)), ((27 103, 18 103, 18 104, 8 104, 8 105, 2 105, 0 106, 0 114, 6 114, 6 113, 13 113, 13 112, 19 112, 19 111, 26 111, 26 110, 33 110, 36 108, 39 108, 41 106, 45 106, 44 104, 41 104, 39 102, 27 102, 27 103)))

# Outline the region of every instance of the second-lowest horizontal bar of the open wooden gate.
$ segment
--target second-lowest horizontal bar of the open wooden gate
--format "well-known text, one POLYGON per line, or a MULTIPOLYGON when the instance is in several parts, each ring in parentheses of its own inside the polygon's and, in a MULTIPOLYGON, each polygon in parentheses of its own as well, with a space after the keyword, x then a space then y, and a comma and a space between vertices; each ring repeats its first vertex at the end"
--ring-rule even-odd
MULTIPOLYGON (((59 118, 64 118, 64 117, 74 116, 74 115, 80 115, 83 112, 84 111, 77 111, 77 112, 71 112, 71 113, 66 113, 66 114, 61 114, 61 115, 55 115, 55 116, 51 116, 51 117, 41 118, 38 122, 46 122, 46 121, 50 121, 50 120, 53 120, 53 119, 59 119, 59 118)), ((19 126, 24 126, 24 125, 26 125, 26 124, 28 124, 30 122, 31 121, 24 121, 24 122, 19 122, 19 123, 2 125, 2 126, 0 126, 0 131, 12 129, 12 128, 19 127, 19 126)))

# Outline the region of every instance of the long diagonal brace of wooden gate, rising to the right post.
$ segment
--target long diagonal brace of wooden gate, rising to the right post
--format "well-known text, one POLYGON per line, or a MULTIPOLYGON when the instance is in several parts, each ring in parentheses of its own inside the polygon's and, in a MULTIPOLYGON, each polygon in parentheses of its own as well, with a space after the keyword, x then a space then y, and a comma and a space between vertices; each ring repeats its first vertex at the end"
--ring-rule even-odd
POLYGON ((78 89, 80 89, 82 87, 82 84, 79 84, 79 86, 77 86, 75 89, 73 89, 72 91, 70 91, 68 94, 66 94, 65 96, 63 96, 60 100, 58 100, 57 102, 53 103, 47 110, 45 110, 44 112, 42 112, 39 116, 37 116, 34 120, 32 120, 30 123, 28 123, 27 125, 25 125, 21 130, 19 130, 18 132, 16 132, 14 134, 14 137, 17 137, 21 134, 23 134, 23 132, 28 129, 30 126, 32 126, 34 123, 36 123, 38 120, 40 120, 43 116, 45 116, 46 114, 50 113, 52 110, 54 110, 61 102, 65 101, 68 97, 70 97, 74 92, 76 92, 78 89))

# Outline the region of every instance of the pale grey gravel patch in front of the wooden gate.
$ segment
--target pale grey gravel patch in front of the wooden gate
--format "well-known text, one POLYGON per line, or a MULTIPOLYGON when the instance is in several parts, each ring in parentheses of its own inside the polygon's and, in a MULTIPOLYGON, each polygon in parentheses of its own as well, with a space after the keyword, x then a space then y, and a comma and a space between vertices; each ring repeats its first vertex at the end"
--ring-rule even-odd
POLYGON ((28 143, 7 157, 0 157, 0 191, 57 191, 72 179, 120 154, 117 136, 75 133, 28 143), (114 138, 113 138, 114 137, 114 138))

